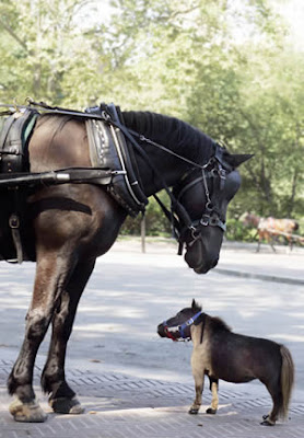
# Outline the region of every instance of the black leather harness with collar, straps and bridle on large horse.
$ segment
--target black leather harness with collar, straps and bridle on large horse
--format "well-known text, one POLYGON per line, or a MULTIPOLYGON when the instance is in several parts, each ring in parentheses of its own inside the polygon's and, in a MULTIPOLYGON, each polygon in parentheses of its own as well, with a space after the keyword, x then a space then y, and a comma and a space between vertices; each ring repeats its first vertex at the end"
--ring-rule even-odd
MULTIPOLYGON (((147 196, 139 180, 137 162, 133 157, 136 151, 153 170, 169 196, 171 210, 154 195, 156 201, 172 223, 174 234, 179 242, 179 254, 183 252, 185 242, 187 246, 189 246, 199 239, 202 227, 211 226, 219 227, 223 231, 225 230, 225 224, 217 211, 217 206, 212 203, 212 194, 209 194, 207 184, 208 178, 212 178, 214 182, 219 177, 220 185, 222 186, 225 181, 226 170, 231 170, 227 169, 227 163, 223 163, 223 148, 221 146, 214 142, 214 155, 207 164, 202 165, 178 155, 174 151, 144 138, 138 132, 129 130, 124 125, 119 107, 116 107, 114 104, 102 104, 98 107, 87 108, 85 113, 51 107, 44 103, 37 104, 33 101, 31 101, 30 104, 30 106, 17 106, 13 108, 10 105, 1 105, 8 107, 4 114, 9 114, 10 117, 5 120, 0 137, 0 159, 2 164, 0 170, 4 172, 0 174, 0 188, 13 188, 14 193, 19 194, 19 187, 21 186, 36 187, 45 184, 63 183, 101 184, 107 187, 110 195, 130 216, 136 217, 139 212, 144 212, 145 205, 148 204, 147 196), (37 107, 43 114, 68 115, 80 117, 85 120, 92 169, 65 169, 38 174, 28 172, 26 146, 28 145, 28 138, 33 131, 37 115, 39 114, 37 107), (17 120, 17 123, 15 123, 15 120, 17 120), (26 139, 24 132, 27 132, 26 139), (188 162, 191 165, 190 173, 194 169, 199 169, 201 173, 200 176, 184 186, 180 193, 177 194, 177 197, 175 197, 169 187, 167 187, 163 175, 161 175, 157 169, 152 164, 149 155, 144 152, 143 148, 139 146, 135 137, 138 137, 140 141, 149 142, 155 148, 162 149, 188 162), (201 219, 192 221, 178 199, 187 189, 198 183, 203 184, 207 205, 201 219), (190 239, 187 238, 186 241, 185 234, 187 231, 190 231, 190 239)), ((19 205, 17 199, 15 205, 19 205)), ((14 238, 13 240, 17 253, 16 258, 21 262, 23 255, 21 241, 20 238, 17 238, 20 226, 19 215, 15 215, 13 219, 14 220, 10 221, 10 228, 12 234, 16 237, 16 239, 14 238), (17 240, 20 241, 19 243, 17 240)))

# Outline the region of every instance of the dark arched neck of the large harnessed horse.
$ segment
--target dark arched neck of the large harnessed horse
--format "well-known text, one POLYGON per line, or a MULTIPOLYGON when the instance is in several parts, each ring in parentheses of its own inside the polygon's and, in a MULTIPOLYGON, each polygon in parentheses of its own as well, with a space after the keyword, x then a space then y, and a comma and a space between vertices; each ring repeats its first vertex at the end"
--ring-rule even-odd
MULTIPOLYGON (((214 142, 210 137, 177 118, 132 111, 122 112, 122 117, 129 129, 197 163, 203 164, 213 152, 214 142)), ((149 142, 143 141, 141 146, 168 186, 175 185, 190 166, 149 142)), ((162 182, 140 155, 137 161, 144 192, 150 196, 162 188, 162 182)))

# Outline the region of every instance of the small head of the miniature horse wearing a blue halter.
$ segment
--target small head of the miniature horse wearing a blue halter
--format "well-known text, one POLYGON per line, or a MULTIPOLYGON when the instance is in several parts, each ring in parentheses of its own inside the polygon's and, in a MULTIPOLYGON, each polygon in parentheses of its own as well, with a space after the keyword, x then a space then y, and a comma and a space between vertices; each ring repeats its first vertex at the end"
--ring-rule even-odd
POLYGON ((157 333, 161 337, 168 337, 178 341, 180 337, 190 338, 190 326, 200 322, 201 307, 192 300, 190 308, 180 310, 175 316, 162 322, 157 326, 157 333))

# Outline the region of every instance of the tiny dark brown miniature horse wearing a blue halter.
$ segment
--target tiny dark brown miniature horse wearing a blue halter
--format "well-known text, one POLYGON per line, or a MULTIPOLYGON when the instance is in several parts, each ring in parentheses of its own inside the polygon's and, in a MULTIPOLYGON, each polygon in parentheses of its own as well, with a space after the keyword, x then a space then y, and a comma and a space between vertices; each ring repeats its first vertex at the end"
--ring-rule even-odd
POLYGON ((188 338, 194 343, 191 357, 196 397, 189 414, 198 414, 201 405, 204 376, 212 391, 211 407, 219 405, 219 379, 246 383, 259 379, 269 391, 273 406, 264 415, 262 425, 273 426, 279 416, 285 418, 294 380, 294 365, 289 349, 273 341, 233 333, 219 318, 209 316, 192 301, 190 308, 161 323, 159 335, 173 341, 188 338))

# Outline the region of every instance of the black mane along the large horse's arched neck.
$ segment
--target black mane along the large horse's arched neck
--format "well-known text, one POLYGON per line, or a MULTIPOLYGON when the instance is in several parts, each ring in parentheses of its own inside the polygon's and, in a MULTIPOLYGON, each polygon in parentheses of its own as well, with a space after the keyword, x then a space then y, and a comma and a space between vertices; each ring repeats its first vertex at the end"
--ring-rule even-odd
POLYGON ((207 162, 214 151, 214 140, 178 118, 135 111, 122 112, 122 117, 129 129, 201 164, 207 162))

